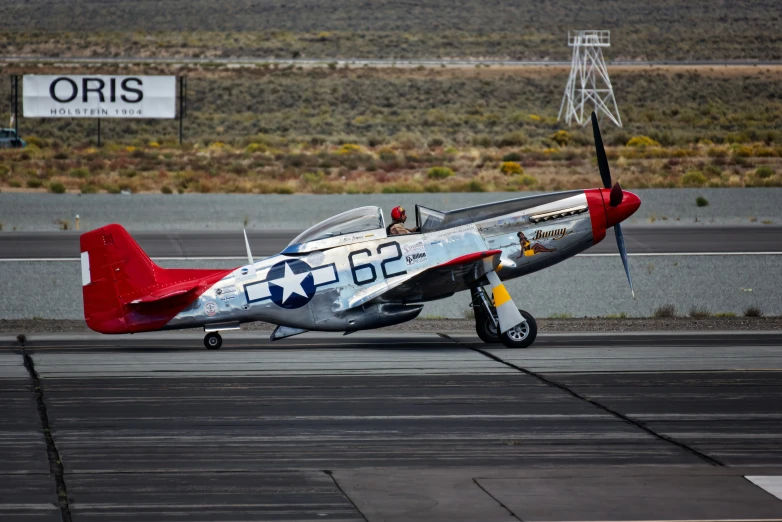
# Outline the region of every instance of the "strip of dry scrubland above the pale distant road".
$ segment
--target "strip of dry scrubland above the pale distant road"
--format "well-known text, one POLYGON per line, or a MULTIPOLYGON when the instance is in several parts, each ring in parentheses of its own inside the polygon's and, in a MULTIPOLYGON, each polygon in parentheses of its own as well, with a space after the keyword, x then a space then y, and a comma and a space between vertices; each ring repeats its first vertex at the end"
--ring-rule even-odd
POLYGON ((564 59, 567 28, 612 30, 627 60, 776 60, 776 0, 414 3, 60 0, 0 4, 7 55, 465 57, 564 59))

